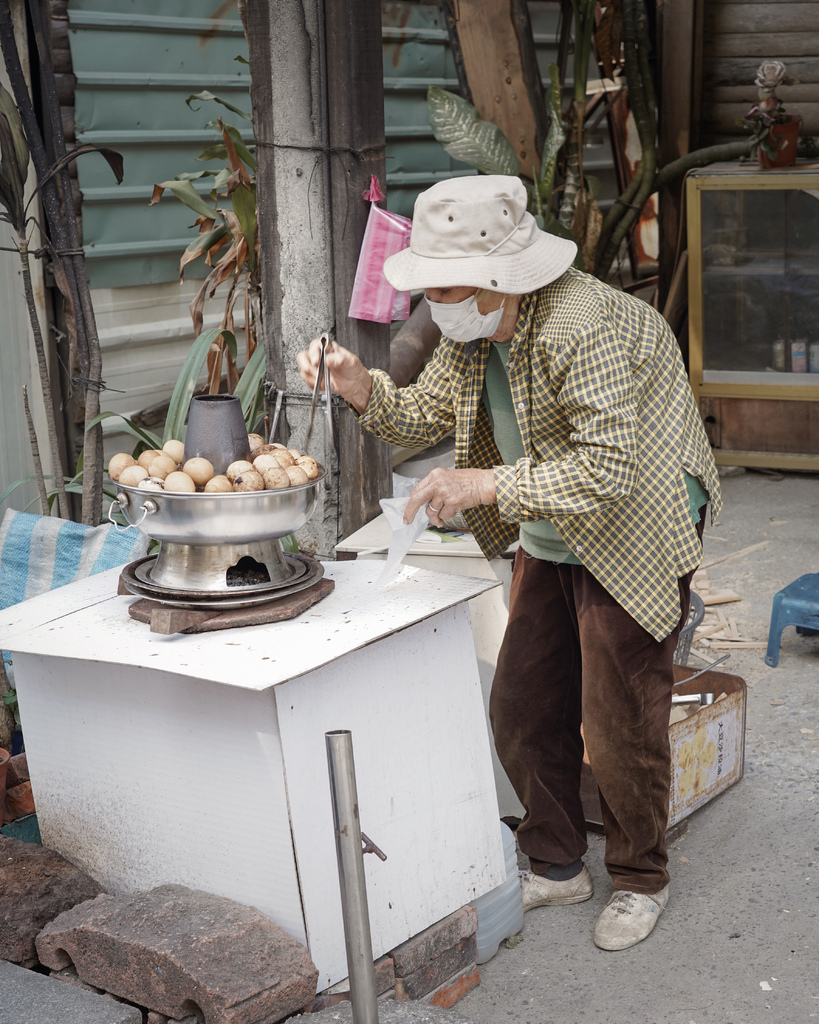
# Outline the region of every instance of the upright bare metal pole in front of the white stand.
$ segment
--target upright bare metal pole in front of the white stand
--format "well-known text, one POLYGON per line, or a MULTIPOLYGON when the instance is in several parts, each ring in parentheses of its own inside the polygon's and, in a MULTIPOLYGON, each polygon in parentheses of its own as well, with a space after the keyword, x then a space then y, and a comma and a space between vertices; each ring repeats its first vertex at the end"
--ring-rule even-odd
POLYGON ((333 798, 333 820, 336 826, 336 856, 339 862, 352 1020, 353 1024, 378 1024, 376 970, 373 965, 373 940, 367 905, 352 733, 347 729, 337 729, 326 732, 325 739, 333 798))

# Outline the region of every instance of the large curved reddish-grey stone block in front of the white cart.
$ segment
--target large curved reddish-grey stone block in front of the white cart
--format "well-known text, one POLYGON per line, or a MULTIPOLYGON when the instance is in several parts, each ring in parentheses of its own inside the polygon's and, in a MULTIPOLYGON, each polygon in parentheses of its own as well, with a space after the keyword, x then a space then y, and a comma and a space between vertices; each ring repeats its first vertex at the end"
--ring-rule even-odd
POLYGON ((312 1001, 318 979, 304 946, 255 907, 175 885, 68 910, 37 950, 120 998, 208 1024, 279 1021, 312 1001))

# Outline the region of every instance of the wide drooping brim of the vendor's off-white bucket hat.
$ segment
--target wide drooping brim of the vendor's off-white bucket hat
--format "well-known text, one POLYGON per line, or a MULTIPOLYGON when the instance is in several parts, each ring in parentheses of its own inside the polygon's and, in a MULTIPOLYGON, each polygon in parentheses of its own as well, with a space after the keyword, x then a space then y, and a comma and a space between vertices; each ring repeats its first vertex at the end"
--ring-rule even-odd
POLYGON ((522 295, 557 281, 571 266, 576 253, 577 246, 569 239, 546 231, 541 231, 526 249, 506 256, 419 256, 411 244, 384 261, 384 274, 399 292, 460 287, 522 295))

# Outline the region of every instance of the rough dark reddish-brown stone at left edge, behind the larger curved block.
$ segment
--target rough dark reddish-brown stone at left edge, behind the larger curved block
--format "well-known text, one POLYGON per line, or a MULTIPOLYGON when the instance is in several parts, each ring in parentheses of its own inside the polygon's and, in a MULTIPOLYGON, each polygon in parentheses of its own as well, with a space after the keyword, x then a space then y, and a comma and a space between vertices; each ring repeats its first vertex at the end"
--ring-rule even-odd
POLYGON ((0 959, 36 967, 38 933, 101 891, 55 850, 0 836, 0 959))

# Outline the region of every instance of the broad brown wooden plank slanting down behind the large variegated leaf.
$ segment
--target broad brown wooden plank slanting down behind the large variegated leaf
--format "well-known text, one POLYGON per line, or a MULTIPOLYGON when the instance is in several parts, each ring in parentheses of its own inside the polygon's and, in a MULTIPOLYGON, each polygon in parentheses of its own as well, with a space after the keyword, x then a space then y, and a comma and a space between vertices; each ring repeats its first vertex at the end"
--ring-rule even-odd
POLYGON ((457 33, 472 102, 502 129, 520 173, 530 178, 533 169, 540 172, 547 116, 534 86, 536 58, 526 46, 528 10, 518 0, 461 0, 458 6, 449 27, 457 33))

